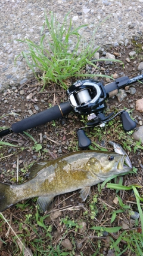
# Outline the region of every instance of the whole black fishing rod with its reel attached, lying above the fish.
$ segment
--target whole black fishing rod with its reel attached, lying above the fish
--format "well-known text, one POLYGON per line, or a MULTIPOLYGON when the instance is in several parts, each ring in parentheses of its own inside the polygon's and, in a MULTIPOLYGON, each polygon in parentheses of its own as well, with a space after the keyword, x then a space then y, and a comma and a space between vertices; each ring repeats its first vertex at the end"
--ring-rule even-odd
MULTIPOLYGON (((77 115, 84 115, 88 118, 87 127, 95 127, 97 125, 105 124, 111 119, 120 115, 122 119, 123 129, 130 131, 136 127, 136 122, 133 121, 129 113, 125 110, 114 115, 110 113, 108 116, 104 115, 104 110, 107 107, 105 100, 117 95, 119 89, 125 88, 132 83, 136 83, 143 79, 143 74, 129 79, 128 76, 120 77, 107 85, 103 85, 101 82, 94 79, 77 80, 73 85, 67 89, 66 94, 68 101, 61 103, 57 106, 43 110, 38 114, 25 118, 21 121, 15 122, 11 125, 11 128, 4 129, 0 132, 0 137, 11 134, 12 132, 20 133, 38 127, 39 125, 46 124, 58 118, 63 118, 71 111, 77 115)), ((91 144, 91 140, 86 137, 82 128, 77 130, 77 137, 79 139, 79 147, 88 147, 91 144)))

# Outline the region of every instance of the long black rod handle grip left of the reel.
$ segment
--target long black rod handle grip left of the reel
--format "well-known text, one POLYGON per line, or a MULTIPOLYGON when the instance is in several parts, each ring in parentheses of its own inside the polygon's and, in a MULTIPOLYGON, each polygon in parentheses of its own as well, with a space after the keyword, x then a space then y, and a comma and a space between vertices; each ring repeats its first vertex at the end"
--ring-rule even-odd
POLYGON ((27 129, 38 127, 39 125, 46 124, 52 120, 62 118, 63 116, 69 114, 71 110, 73 110, 73 108, 70 106, 69 101, 66 101, 66 103, 61 103, 59 106, 56 105, 39 112, 38 114, 30 116, 29 118, 16 122, 11 126, 11 129, 15 133, 26 131, 27 129))

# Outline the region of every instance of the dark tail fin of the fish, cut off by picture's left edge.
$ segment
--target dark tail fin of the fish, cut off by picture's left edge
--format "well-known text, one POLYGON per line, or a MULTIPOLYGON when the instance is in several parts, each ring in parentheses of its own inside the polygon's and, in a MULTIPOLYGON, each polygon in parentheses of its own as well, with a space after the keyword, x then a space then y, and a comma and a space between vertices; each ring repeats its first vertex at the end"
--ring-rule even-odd
POLYGON ((10 185, 0 182, 0 212, 13 205, 8 194, 10 195, 10 185))

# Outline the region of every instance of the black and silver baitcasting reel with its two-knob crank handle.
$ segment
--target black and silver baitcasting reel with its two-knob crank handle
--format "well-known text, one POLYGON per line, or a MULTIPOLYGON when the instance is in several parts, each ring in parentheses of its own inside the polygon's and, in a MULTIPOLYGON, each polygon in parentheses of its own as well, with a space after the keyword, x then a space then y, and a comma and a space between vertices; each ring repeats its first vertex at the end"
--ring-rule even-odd
MULTIPOLYGON (((122 86, 122 78, 113 82, 112 85, 115 86, 117 82, 122 86)), ((116 115, 114 115, 114 112, 110 113, 108 116, 104 115, 104 109, 107 107, 105 100, 110 97, 110 95, 116 95, 117 92, 118 90, 115 89, 114 93, 111 91, 110 94, 107 86, 103 86, 101 82, 96 80, 78 80, 67 90, 69 103, 71 107, 73 107, 74 112, 79 115, 87 115, 88 121, 90 121, 86 124, 87 127, 82 127, 77 130, 79 147, 88 147, 91 144, 91 140, 86 137, 83 128, 91 128, 97 125, 104 126, 105 122, 110 121, 117 115, 120 115, 125 131, 130 131, 136 127, 136 123, 125 110, 116 115)))

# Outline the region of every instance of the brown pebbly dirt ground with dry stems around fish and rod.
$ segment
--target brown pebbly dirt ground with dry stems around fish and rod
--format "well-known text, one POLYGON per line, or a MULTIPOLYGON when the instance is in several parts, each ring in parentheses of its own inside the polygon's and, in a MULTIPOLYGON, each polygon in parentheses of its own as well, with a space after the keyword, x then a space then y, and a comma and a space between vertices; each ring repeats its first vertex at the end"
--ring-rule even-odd
MULTIPOLYGON (((119 53, 120 57, 117 55, 116 58, 124 62, 125 68, 116 62, 113 62, 112 65, 105 65, 102 62, 99 63, 100 72, 102 74, 108 74, 109 76, 117 74, 118 77, 128 76, 132 78, 138 76, 138 74, 140 74, 138 72, 138 65, 143 61, 141 46, 143 46, 142 41, 139 41, 133 42, 127 47, 120 46, 119 48, 108 50, 110 53, 119 53), (128 62, 126 59, 129 58, 129 52, 132 50, 135 50, 137 54, 133 56, 133 58, 130 58, 130 62, 128 62)), ((107 83, 105 79, 101 78, 98 80, 102 81, 104 85, 107 83)), ((68 81, 69 85, 73 82, 73 80, 68 81)), ((61 103, 61 101, 67 101, 66 91, 63 91, 59 86, 50 84, 41 92, 42 86, 42 82, 39 82, 33 77, 22 86, 3 92, 0 95, 0 116, 4 116, 0 119, 0 126, 11 127, 14 122, 33 115, 33 113, 41 112, 48 107, 61 103), (7 115, 9 113, 16 113, 17 115, 7 115)), ((139 120, 142 120, 142 113, 135 110, 135 101, 143 97, 143 89, 141 83, 135 83, 134 87, 136 93, 131 95, 127 92, 128 96, 120 103, 116 97, 108 99, 107 110, 108 113, 110 113, 114 109, 120 111, 124 109, 124 107, 133 109, 132 116, 137 122, 137 127, 139 127, 139 120)), ((76 116, 71 112, 65 118, 30 129, 27 132, 32 137, 28 137, 24 133, 13 133, 3 137, 2 141, 11 143, 13 146, 1 146, 0 181, 9 184, 17 184, 17 156, 18 183, 22 183, 27 179, 30 164, 33 164, 33 162, 41 161, 42 159, 57 158, 61 155, 80 150, 76 131, 78 128, 85 125, 86 121, 84 120, 85 119, 81 116, 76 116), (33 139, 36 142, 33 141, 33 139), (36 150, 39 144, 42 146, 42 149, 36 150), (14 147, 14 145, 18 147, 14 147)), ((108 150, 113 150, 108 144, 109 140, 116 141, 124 146, 123 134, 125 134, 125 132, 122 129, 122 125, 120 125, 119 130, 116 131, 116 125, 119 125, 119 120, 119 118, 116 118, 113 124, 107 124, 104 128, 97 127, 86 129, 86 134, 91 138, 92 146, 95 147, 94 143, 97 143, 108 150), (101 134, 101 136, 99 134, 101 134), (119 136, 120 134, 122 135, 119 136)), ((142 150, 137 149, 136 152, 133 152, 131 135, 128 135, 128 140, 131 141, 130 147, 132 148, 132 152, 129 152, 127 149, 126 152, 128 152, 133 166, 138 168, 138 171, 122 176, 122 184, 142 185, 142 150)), ((97 147, 95 147, 95 149, 97 149, 97 147)), ((142 188, 140 192, 142 194, 142 188)), ((122 198, 123 203, 128 204, 132 210, 138 212, 135 196, 132 191, 119 191, 118 195, 122 198)), ((92 187, 91 196, 87 198, 85 203, 83 203, 82 199, 79 197, 79 191, 55 197, 50 209, 46 212, 46 214, 51 213, 51 217, 46 217, 44 222, 46 228, 51 227, 51 230, 49 228, 51 237, 48 236, 48 231, 45 231, 43 227, 38 225, 37 219, 34 218, 37 211, 35 199, 22 201, 17 206, 5 210, 3 214, 5 218, 9 220, 17 236, 31 249, 33 255, 117 255, 117 252, 111 248, 110 237, 113 240, 117 240, 119 233, 106 234, 104 232, 101 236, 101 234, 97 235, 94 230, 91 230, 91 227, 97 225, 102 227, 117 227, 122 225, 122 221, 128 224, 129 230, 136 228, 135 223, 131 223, 132 221, 130 221, 126 212, 119 213, 113 224, 110 224, 111 212, 113 212, 113 209, 119 209, 117 204, 114 203, 115 197, 115 190, 104 187, 104 189, 99 192, 98 186, 92 187), (94 195, 97 195, 95 205, 93 203, 94 195), (94 217, 91 207, 93 205, 94 212, 96 213, 94 217), (55 213, 57 213, 56 216, 54 215, 55 213), (69 220, 72 222, 68 222, 69 220), (79 222, 80 224, 82 222, 84 226, 80 228, 80 230, 79 222), (61 241, 63 242, 65 239, 68 239, 71 243, 68 249, 66 247, 67 243, 66 245, 64 243, 62 245, 61 243, 61 241), (36 244, 37 248, 35 247, 36 244), (60 251, 58 251, 57 248, 60 251), (61 252, 67 252, 67 254, 61 254, 61 252)), ((138 224, 138 228, 139 227, 141 227, 141 224, 138 224)), ((1 255, 26 255, 24 252, 22 254, 20 251, 20 246, 18 245, 13 230, 8 228, 7 223, 2 219, 0 221, 0 228, 1 255)), ((119 246, 121 251, 123 251, 126 243, 121 240, 119 246)), ((136 254, 133 254, 133 252, 128 249, 122 255, 136 254)))

